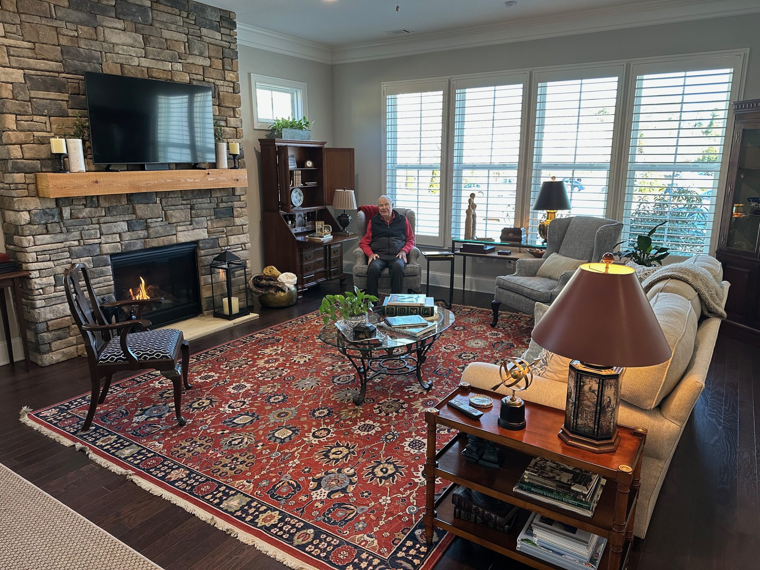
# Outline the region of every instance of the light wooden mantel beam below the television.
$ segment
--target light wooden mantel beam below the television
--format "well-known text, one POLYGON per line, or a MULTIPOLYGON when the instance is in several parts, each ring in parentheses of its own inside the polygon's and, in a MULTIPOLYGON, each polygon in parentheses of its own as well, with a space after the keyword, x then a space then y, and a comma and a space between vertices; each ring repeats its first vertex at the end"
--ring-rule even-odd
POLYGON ((248 170, 93 170, 87 173, 38 173, 37 195, 43 198, 77 198, 135 192, 169 192, 200 188, 239 188, 248 185, 248 170))

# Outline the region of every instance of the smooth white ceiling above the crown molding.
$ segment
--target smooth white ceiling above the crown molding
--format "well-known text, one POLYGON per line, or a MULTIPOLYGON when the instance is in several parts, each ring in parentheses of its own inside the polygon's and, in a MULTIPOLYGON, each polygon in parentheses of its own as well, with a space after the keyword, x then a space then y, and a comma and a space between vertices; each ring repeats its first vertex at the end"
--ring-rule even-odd
POLYGON ((687 13, 689 5, 726 4, 724 0, 518 0, 507 8, 504 0, 204 0, 236 12, 239 23, 295 36, 324 46, 347 46, 420 34, 440 33, 530 21, 574 20, 610 11, 646 10, 667 4, 687 13), (396 6, 399 11, 396 11, 396 6), (413 34, 389 36, 387 30, 407 28, 413 34))

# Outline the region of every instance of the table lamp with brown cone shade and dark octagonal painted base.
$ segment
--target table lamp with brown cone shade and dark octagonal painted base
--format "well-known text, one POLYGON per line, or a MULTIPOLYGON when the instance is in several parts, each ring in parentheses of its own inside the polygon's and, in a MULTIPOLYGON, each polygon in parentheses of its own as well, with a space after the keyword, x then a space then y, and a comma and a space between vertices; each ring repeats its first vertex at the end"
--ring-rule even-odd
POLYGON ((533 330, 546 350, 572 358, 565 423, 559 438, 597 453, 620 441, 617 413, 622 367, 670 359, 670 346, 633 268, 581 265, 533 330))

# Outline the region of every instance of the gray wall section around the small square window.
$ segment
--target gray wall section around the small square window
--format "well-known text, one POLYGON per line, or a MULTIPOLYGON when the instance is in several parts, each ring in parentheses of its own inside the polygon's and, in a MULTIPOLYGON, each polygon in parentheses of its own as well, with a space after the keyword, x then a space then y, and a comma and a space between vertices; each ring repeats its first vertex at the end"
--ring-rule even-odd
MULTIPOLYGON (((264 247, 261 241, 261 145, 268 131, 253 128, 251 74, 302 81, 306 83, 306 111, 314 122, 312 139, 333 139, 332 87, 330 65, 311 62, 291 55, 239 46, 240 94, 242 95, 242 129, 245 165, 248 167, 248 214, 251 228, 251 271, 259 273, 264 267, 264 247)), ((334 145, 331 145, 334 146, 334 145)))

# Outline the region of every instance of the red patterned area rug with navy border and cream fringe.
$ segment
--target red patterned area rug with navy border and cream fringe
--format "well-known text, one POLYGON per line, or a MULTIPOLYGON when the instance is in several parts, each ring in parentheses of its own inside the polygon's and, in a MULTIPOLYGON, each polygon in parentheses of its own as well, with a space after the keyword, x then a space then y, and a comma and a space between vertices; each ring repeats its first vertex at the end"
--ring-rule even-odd
POLYGON ((424 365, 429 392, 413 374, 381 376, 354 405, 353 368, 316 338, 312 313, 192 356, 182 428, 157 372, 113 385, 87 433, 89 394, 24 409, 22 421, 292 568, 425 570, 452 537, 424 540, 423 410, 468 363, 524 350, 533 325, 502 313, 491 328, 489 310, 468 306, 454 314, 424 365))

